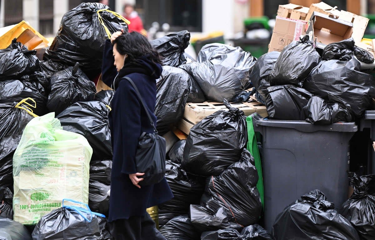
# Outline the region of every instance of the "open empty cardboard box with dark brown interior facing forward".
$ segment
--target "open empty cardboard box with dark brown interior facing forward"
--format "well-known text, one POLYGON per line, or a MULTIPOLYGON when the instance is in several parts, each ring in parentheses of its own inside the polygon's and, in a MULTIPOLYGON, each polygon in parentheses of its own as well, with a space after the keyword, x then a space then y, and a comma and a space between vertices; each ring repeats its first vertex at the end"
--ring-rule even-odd
POLYGON ((306 34, 316 37, 317 47, 348 39, 353 34, 353 24, 342 19, 332 18, 323 13, 314 12, 306 34))

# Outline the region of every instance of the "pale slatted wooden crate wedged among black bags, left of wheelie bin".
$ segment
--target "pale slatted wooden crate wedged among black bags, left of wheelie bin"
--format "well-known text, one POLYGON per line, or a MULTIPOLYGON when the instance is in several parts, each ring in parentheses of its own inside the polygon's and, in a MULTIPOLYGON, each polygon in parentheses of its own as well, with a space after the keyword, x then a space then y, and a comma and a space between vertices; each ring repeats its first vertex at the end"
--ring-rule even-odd
MULTIPOLYGON (((258 113, 262 117, 267 117, 266 106, 260 102, 242 102, 231 104, 232 107, 239 108, 246 116, 258 113)), ((218 110, 228 110, 222 102, 206 101, 202 103, 188 102, 185 106, 183 119, 177 124, 178 129, 189 134, 190 128, 196 123, 202 121, 205 117, 210 116, 218 110)))

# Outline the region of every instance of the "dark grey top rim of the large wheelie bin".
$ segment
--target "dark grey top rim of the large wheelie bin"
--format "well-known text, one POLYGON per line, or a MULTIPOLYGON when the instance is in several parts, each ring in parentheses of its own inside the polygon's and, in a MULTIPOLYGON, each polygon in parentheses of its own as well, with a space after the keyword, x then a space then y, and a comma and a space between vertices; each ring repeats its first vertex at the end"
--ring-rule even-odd
MULTIPOLYGON (((253 116, 253 115, 252 115, 253 116)), ((253 116, 254 117, 254 116, 253 116)), ((308 123, 307 121, 290 121, 290 120, 266 120, 257 119, 254 117, 254 124, 266 127, 282 127, 282 128, 292 128, 300 132, 357 132, 358 127, 356 123, 334 123, 331 125, 314 125, 308 123)))

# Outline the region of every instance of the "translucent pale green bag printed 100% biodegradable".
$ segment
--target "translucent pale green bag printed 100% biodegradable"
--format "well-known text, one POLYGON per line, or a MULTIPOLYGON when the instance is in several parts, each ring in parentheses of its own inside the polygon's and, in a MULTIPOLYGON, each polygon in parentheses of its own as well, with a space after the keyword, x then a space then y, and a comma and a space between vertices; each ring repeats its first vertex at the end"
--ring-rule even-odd
POLYGON ((62 130, 54 113, 32 119, 13 156, 14 220, 37 224, 63 199, 87 204, 92 153, 86 138, 62 130))

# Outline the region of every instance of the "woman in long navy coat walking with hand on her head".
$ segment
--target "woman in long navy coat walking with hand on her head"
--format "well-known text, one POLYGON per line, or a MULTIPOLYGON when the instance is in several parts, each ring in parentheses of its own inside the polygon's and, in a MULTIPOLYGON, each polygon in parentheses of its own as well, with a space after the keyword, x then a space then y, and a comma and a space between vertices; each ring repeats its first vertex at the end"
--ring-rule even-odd
POLYGON ((115 240, 165 239, 156 229, 146 208, 173 197, 166 179, 149 186, 140 186, 142 175, 135 165, 136 148, 142 132, 153 133, 147 117, 156 103, 156 79, 162 73, 158 53, 142 34, 114 33, 104 49, 102 80, 115 90, 111 101, 109 123, 112 135, 113 165, 110 197, 110 231, 115 240), (133 80, 147 110, 136 94, 133 80))

